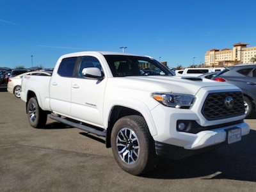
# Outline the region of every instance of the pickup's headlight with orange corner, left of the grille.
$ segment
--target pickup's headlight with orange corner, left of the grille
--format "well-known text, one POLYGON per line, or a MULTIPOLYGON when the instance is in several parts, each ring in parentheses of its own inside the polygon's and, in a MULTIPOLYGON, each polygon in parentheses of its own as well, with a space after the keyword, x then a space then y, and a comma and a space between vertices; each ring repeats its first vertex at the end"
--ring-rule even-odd
POLYGON ((195 97, 179 93, 153 93, 152 97, 164 106, 188 109, 193 105, 195 97))

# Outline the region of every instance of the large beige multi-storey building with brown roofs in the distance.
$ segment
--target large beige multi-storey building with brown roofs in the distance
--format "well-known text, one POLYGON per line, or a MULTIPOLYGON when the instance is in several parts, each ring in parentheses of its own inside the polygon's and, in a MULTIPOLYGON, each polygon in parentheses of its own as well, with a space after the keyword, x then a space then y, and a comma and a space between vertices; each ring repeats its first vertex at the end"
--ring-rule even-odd
POLYGON ((256 55, 256 47, 247 47, 248 44, 237 43, 232 49, 212 49, 205 53, 205 67, 231 66, 238 63, 252 63, 256 55))

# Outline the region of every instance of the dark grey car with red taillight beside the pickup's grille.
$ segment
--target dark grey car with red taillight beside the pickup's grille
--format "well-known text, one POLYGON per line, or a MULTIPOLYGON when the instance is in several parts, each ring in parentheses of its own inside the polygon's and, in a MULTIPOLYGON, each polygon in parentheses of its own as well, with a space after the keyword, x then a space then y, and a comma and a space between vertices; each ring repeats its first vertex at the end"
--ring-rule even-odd
POLYGON ((241 88, 244 95, 246 118, 252 115, 256 106, 256 64, 227 67, 212 80, 232 83, 241 88))

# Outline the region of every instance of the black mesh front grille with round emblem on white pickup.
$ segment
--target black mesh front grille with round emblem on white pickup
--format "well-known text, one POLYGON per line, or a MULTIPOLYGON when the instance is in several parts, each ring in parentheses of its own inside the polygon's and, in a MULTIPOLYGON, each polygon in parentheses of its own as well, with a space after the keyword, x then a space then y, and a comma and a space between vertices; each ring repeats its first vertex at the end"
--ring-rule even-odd
POLYGON ((202 115, 207 120, 218 120, 244 115, 244 101, 241 92, 210 93, 202 108, 202 115), (232 98, 232 106, 225 105, 232 98))

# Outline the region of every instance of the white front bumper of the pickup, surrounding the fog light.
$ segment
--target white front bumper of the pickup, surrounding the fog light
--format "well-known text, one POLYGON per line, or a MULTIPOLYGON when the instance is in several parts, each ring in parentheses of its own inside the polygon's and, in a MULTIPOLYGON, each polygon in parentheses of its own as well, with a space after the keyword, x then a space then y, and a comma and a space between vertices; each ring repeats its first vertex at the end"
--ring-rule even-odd
POLYGON ((250 126, 243 121, 227 125, 228 122, 236 122, 237 118, 243 119, 241 116, 207 121, 189 109, 162 108, 161 106, 152 110, 152 116, 157 117, 154 118, 154 123, 157 125, 157 134, 153 136, 154 140, 163 145, 177 146, 185 150, 198 150, 223 143, 227 140, 228 129, 241 129, 241 136, 250 132, 250 126), (159 114, 163 115, 159 116, 159 114), (196 121, 199 125, 211 126, 214 129, 200 131, 196 134, 180 132, 177 131, 177 121, 180 119, 196 121))

